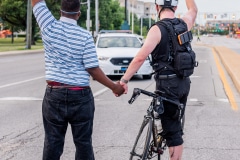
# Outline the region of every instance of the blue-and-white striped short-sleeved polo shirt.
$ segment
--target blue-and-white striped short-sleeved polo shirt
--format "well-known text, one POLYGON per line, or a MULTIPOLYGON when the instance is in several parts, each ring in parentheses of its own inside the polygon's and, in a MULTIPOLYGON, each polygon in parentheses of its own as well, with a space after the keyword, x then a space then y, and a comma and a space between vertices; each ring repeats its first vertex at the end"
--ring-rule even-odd
POLYGON ((86 69, 99 66, 91 33, 79 27, 76 20, 56 20, 44 1, 33 7, 33 13, 42 34, 46 80, 89 86, 86 69))

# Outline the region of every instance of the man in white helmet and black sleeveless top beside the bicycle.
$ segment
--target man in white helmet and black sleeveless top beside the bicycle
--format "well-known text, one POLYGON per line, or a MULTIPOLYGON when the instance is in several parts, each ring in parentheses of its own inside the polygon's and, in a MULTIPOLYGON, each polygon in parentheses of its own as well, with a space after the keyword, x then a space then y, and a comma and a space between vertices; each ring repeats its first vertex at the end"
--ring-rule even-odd
MULTIPOLYGON (((160 21, 181 21, 181 23, 184 23, 186 31, 191 30, 197 16, 198 9, 194 0, 185 1, 188 11, 181 19, 178 19, 174 16, 178 0, 155 0, 156 10, 160 21)), ((169 37, 167 29, 159 27, 158 25, 153 25, 147 34, 144 45, 132 60, 126 73, 120 80, 120 84, 125 88, 125 94, 128 92, 127 82, 138 71, 149 54, 151 54, 153 58, 157 56, 160 57, 162 61, 166 61, 167 51, 169 51, 169 37)), ((189 77, 180 78, 176 76, 173 71, 167 70, 162 72, 161 76, 159 76, 159 74, 155 74, 154 78, 157 90, 164 91, 166 93, 165 96, 173 100, 178 100, 186 106, 187 96, 190 90, 189 77)), ((183 151, 183 132, 181 123, 177 118, 173 118, 173 114, 176 113, 175 106, 165 102, 164 107, 165 111, 161 115, 161 120, 164 131, 163 136, 166 138, 167 145, 169 147, 170 160, 180 160, 183 151)))

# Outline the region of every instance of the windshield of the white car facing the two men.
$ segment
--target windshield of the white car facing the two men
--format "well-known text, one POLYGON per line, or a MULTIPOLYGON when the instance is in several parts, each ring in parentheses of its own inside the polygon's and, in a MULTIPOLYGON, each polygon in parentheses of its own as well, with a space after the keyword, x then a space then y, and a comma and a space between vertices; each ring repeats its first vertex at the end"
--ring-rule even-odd
POLYGON ((100 37, 98 41, 98 48, 110 47, 131 47, 141 48, 142 44, 137 37, 100 37))

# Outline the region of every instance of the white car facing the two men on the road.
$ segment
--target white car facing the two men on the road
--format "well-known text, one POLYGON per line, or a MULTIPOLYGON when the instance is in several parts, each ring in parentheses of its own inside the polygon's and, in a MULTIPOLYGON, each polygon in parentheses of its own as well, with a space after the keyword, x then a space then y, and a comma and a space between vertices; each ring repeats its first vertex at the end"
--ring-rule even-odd
MULTIPOLYGON (((96 40, 100 68, 107 76, 123 75, 132 59, 142 47, 142 41, 130 33, 102 33, 96 40)), ((152 67, 149 58, 135 75, 151 79, 152 67)))

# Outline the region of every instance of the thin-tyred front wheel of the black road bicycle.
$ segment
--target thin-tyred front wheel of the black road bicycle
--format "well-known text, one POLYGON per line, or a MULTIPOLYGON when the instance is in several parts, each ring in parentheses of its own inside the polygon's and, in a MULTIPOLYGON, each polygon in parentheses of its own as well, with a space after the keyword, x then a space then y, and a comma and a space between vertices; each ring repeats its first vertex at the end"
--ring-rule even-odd
POLYGON ((130 160, 146 160, 152 135, 152 119, 144 118, 130 153, 130 160))

